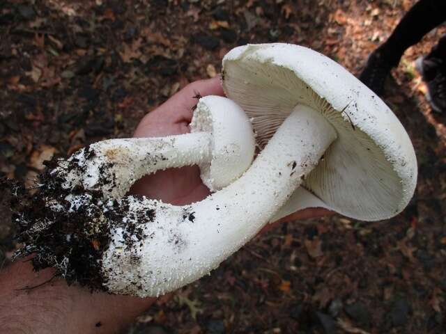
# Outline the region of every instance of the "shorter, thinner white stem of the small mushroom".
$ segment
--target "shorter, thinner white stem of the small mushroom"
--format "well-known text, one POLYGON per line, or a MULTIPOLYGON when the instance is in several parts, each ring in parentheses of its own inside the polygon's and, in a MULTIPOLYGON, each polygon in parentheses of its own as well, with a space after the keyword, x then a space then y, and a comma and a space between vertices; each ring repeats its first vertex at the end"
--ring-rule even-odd
POLYGON ((66 189, 82 185, 85 189, 101 189, 106 198, 120 198, 136 180, 156 170, 210 164, 211 146, 212 136, 207 132, 110 139, 79 151, 52 173, 64 175, 69 170, 63 184, 66 189), (82 168, 72 168, 75 161, 82 168))

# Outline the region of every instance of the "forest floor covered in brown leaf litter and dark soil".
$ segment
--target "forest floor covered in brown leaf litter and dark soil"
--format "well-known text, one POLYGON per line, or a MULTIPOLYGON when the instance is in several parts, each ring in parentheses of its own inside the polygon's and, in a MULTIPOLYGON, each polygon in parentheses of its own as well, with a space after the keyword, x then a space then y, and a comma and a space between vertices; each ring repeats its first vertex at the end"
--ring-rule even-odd
MULTIPOLYGON (((0 0, 0 172, 31 185, 53 154, 131 136, 248 42, 312 47, 357 75, 413 3, 0 0)), ((128 333, 445 333, 446 115, 431 111, 414 67, 445 31, 408 49, 386 84, 419 164, 402 214, 285 223, 161 299, 128 333)), ((1 267, 17 245, 0 217, 1 267)))

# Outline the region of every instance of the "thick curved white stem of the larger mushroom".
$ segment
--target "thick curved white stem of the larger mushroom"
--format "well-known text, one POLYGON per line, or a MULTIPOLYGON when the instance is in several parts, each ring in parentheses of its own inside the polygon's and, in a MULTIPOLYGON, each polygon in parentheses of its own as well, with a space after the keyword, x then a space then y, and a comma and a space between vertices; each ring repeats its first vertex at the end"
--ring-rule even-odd
POLYGON ((157 296, 215 269, 268 223, 335 138, 320 113, 298 105, 245 175, 205 200, 174 207, 123 198, 129 219, 111 224, 112 240, 102 255, 105 286, 114 293, 157 296), (129 226, 131 216, 148 210, 151 222, 132 220, 129 226), (142 236, 129 247, 126 236, 135 228, 142 236))

